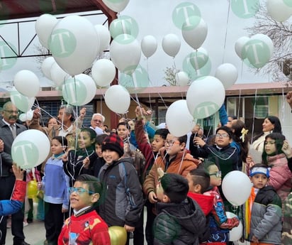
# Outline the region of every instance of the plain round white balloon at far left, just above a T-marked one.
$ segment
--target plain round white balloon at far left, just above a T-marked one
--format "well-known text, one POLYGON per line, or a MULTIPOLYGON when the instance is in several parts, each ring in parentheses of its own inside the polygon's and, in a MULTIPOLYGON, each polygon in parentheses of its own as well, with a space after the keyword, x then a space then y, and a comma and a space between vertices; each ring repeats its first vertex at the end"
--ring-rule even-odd
POLYGON ((30 70, 21 70, 13 79, 17 91, 27 97, 35 97, 40 91, 40 81, 30 70))

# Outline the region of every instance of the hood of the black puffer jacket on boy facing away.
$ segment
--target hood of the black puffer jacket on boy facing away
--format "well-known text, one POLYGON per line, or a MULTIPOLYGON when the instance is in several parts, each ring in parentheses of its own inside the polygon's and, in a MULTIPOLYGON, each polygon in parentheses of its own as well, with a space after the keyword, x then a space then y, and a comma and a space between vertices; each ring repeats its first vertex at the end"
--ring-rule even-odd
POLYGON ((157 202, 157 212, 167 213, 172 219, 176 220, 181 227, 184 227, 192 234, 201 234, 202 227, 206 226, 206 218, 196 202, 187 197, 184 202, 163 203, 157 202))

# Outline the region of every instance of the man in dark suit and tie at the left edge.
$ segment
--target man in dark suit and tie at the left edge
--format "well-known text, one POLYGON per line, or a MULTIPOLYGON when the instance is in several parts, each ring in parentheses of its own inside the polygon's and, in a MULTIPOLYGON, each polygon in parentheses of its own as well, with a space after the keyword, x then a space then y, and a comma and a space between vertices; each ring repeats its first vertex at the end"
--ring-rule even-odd
MULTIPOLYGON (((1 152, 0 162, 0 200, 10 199, 15 176, 12 171, 11 146, 14 138, 26 130, 26 127, 17 124, 18 109, 12 102, 6 102, 1 112, 0 119, 0 138, 4 142, 4 149, 1 152)), ((1 148, 0 148, 1 151, 1 148)), ((29 245, 24 241, 23 234, 23 219, 24 213, 22 210, 11 215, 11 233, 13 237, 13 245, 29 245)), ((5 244, 6 239, 6 217, 1 217, 0 222, 0 245, 5 244)), ((11 241, 10 241, 11 242, 11 241)), ((10 244, 9 242, 9 244, 10 244)))

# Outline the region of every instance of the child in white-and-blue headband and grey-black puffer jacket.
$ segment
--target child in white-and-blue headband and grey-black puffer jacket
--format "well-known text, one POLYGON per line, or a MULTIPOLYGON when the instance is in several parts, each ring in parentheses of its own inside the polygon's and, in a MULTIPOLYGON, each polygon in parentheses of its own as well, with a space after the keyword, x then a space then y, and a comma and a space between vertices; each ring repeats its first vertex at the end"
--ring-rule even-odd
POLYGON ((269 168, 256 164, 250 169, 249 178, 253 187, 245 205, 245 238, 248 235, 251 245, 281 244, 281 199, 274 188, 267 185, 269 168))

